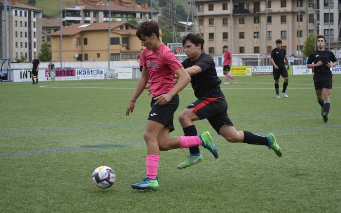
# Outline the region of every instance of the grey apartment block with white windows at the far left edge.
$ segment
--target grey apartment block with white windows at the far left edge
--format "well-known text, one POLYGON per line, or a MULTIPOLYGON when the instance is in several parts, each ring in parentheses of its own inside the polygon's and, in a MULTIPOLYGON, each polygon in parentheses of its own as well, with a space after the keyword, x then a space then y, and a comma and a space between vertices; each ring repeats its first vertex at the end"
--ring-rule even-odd
POLYGON ((33 55, 38 54, 41 47, 42 10, 18 0, 8 0, 8 26, 6 27, 3 21, 3 0, 0 0, 0 8, 0 57, 9 55, 11 60, 15 61, 16 58, 23 56, 27 61, 31 61, 33 55), (11 11, 9 11, 10 6, 11 11), (4 37, 4 30, 8 32, 7 39, 4 37), (7 48, 4 48, 5 46, 7 48))

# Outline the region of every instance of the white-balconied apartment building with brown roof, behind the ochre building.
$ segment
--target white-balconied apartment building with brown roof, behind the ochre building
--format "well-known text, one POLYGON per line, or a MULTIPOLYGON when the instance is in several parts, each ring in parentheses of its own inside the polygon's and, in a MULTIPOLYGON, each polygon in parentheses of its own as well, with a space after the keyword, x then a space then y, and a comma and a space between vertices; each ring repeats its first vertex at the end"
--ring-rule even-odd
MULTIPOLYGON (((111 17, 114 21, 136 18, 139 21, 154 19, 159 12, 148 8, 147 3, 136 4, 136 0, 112 0, 111 17)), ((109 21, 108 0, 75 0, 63 10, 63 26, 75 23, 102 23, 109 21)))

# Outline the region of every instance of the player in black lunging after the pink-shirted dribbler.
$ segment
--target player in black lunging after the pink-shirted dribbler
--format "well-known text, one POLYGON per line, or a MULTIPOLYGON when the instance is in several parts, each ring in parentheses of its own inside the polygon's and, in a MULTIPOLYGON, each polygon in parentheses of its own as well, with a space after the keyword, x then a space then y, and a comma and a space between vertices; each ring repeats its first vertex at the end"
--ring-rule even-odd
MULTIPOLYGON (((182 65, 191 76, 190 83, 197 98, 179 115, 185 136, 197 135, 193 121, 207 119, 216 132, 228 142, 265 145, 274 150, 278 157, 281 157, 281 148, 272 133, 264 137, 247 131, 237 131, 234 128, 227 115, 227 101, 220 89, 221 80, 217 76, 215 63, 208 54, 202 52, 203 37, 200 34, 188 34, 183 38, 182 44, 188 56, 182 65)), ((189 148, 188 158, 178 165, 178 168, 187 168, 203 160, 199 147, 193 146, 189 148)))

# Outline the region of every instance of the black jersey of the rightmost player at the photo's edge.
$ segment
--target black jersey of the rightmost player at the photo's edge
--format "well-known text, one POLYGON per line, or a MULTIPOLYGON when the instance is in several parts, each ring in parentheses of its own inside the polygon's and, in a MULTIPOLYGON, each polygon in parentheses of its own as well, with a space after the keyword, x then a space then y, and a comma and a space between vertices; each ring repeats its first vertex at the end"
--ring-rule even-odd
POLYGON ((316 74, 331 74, 332 71, 330 71, 330 68, 327 66, 327 63, 330 61, 335 62, 336 57, 333 52, 329 50, 324 51, 314 51, 309 55, 307 64, 316 64, 319 61, 322 61, 322 65, 318 67, 314 67, 314 73, 316 74))

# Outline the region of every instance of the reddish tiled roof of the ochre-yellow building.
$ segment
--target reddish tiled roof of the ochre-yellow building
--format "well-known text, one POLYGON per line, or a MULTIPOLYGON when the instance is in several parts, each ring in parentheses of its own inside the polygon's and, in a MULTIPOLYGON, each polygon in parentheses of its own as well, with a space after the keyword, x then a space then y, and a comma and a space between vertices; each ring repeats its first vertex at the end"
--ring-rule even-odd
MULTIPOLYGON (((128 21, 115 21, 111 23, 111 29, 112 32, 121 34, 121 35, 126 35, 129 34, 124 31, 116 31, 115 28, 121 26, 122 24, 126 24, 128 21)), ((63 35, 76 35, 77 33, 80 33, 82 31, 93 31, 93 30, 108 30, 109 29, 109 23, 89 23, 89 24, 72 24, 68 27, 63 28, 63 35), (79 26, 82 25, 88 25, 86 27, 78 28, 79 26)), ((52 36, 54 35, 60 35, 59 30, 50 34, 52 36)))

